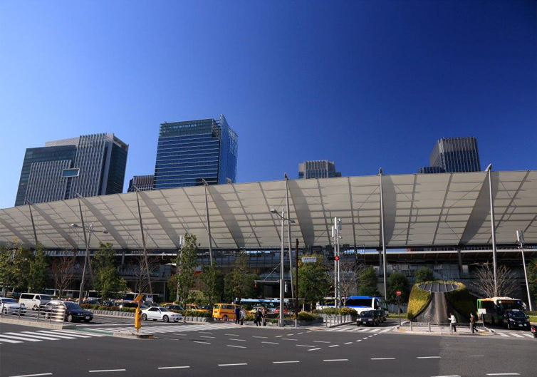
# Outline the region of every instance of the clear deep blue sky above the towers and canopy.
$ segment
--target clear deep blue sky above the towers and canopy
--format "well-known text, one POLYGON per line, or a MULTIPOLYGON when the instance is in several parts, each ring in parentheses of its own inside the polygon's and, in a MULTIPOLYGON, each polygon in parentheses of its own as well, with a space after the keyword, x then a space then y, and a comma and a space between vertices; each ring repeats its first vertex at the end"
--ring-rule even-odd
POLYGON ((0 208, 24 150, 113 132, 125 185, 163 121, 239 134, 238 182, 414 173, 441 137, 481 165, 537 168, 535 1, 2 1, 0 208))

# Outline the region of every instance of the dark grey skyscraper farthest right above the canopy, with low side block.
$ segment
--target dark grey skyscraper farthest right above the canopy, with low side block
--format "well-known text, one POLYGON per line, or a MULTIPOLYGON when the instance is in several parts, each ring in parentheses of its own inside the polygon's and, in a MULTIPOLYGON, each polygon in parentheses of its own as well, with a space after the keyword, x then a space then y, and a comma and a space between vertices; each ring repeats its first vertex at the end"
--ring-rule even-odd
POLYGON ((432 149, 428 167, 420 167, 418 173, 479 172, 479 150, 473 137, 442 138, 432 149))

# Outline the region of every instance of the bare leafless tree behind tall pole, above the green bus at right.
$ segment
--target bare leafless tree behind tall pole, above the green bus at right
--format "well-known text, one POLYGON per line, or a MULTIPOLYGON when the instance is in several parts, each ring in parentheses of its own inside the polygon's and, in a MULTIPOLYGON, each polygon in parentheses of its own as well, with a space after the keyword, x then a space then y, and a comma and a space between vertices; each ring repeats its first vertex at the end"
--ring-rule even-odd
POLYGON ((483 267, 476 269, 476 289, 485 297, 511 296, 516 292, 516 277, 504 264, 496 270, 497 288, 494 286, 494 267, 486 263, 483 267))

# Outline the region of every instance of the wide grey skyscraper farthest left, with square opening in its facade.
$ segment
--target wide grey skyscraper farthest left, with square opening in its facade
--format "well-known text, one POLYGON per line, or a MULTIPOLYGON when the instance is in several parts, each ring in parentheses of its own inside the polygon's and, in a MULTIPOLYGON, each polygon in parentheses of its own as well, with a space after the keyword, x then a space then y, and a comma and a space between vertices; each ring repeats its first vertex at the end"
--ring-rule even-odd
POLYGON ((117 194, 123 190, 128 145, 113 133, 56 140, 28 148, 15 205, 117 194))

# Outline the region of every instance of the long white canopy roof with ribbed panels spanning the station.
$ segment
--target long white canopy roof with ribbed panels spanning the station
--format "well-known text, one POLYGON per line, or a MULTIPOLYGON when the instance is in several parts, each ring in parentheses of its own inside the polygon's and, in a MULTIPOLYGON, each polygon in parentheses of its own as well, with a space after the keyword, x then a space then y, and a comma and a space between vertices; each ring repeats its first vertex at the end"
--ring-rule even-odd
MULTIPOLYGON (((340 217, 340 244, 382 245, 380 179, 336 177, 289 180, 291 237, 301 245, 326 245, 333 217, 340 217)), ((492 172, 496 242, 513 244, 516 230, 537 243, 537 171, 492 172)), ((382 175, 387 247, 491 244, 489 180, 486 172, 382 175)), ((251 182, 208 187, 214 248, 273 248, 280 245, 280 219, 271 208, 286 206, 286 182, 251 182)), ((90 247, 141 249, 136 193, 81 200, 86 226, 96 231, 90 247)), ((209 247, 204 187, 140 192, 147 249, 177 249, 185 232, 209 247)), ((44 247, 84 249, 78 200, 32 205, 38 241, 44 247)), ((28 205, 0 210, 0 244, 34 247, 28 205)))

